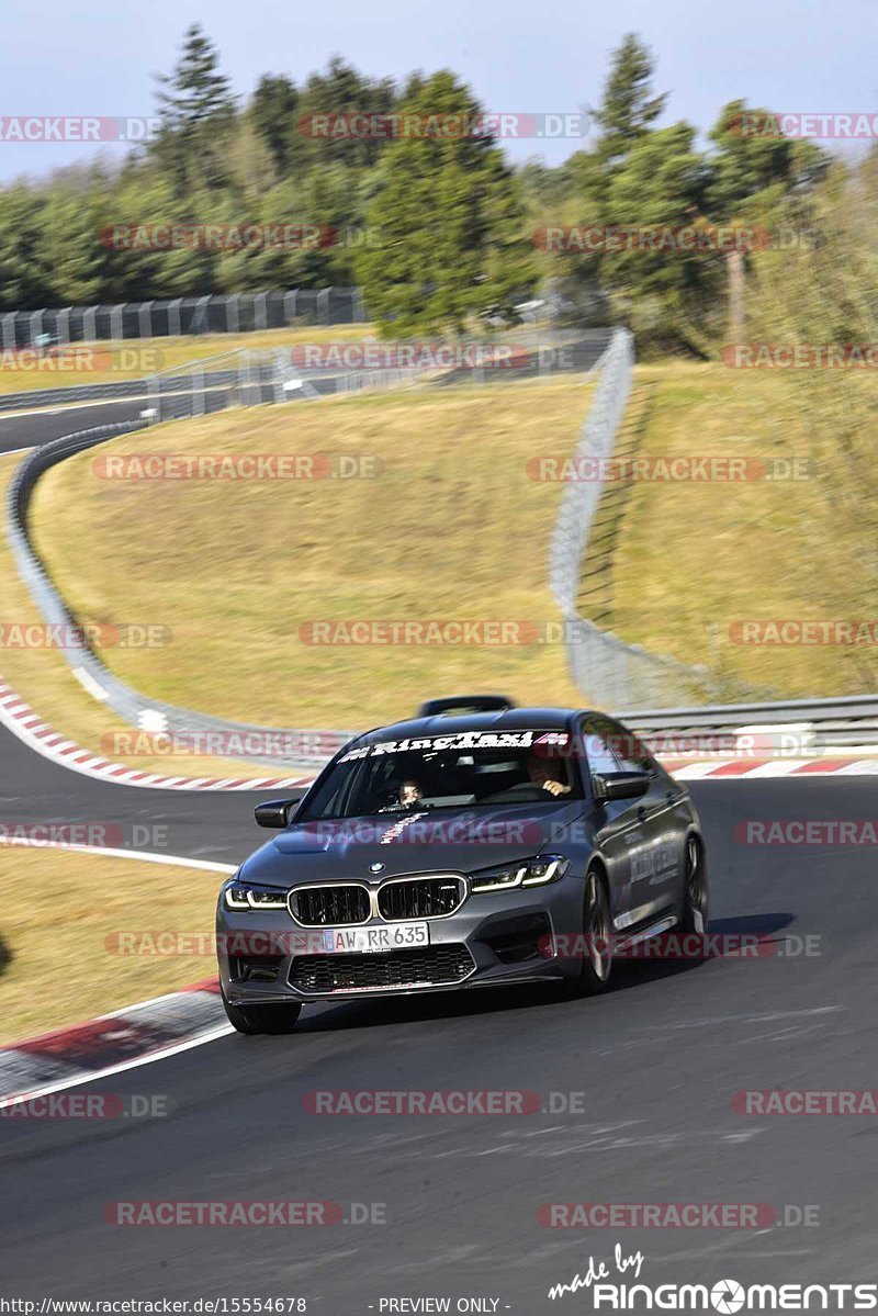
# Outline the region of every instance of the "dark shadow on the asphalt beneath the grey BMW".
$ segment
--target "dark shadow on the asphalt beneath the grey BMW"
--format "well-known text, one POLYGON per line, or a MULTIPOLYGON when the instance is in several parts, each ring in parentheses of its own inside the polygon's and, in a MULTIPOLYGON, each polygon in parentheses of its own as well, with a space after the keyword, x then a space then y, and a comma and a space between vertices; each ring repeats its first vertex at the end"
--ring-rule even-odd
MULTIPOLYGON (((731 919, 716 919, 711 923, 711 937, 720 938, 719 945, 728 938, 729 946, 742 937, 760 938, 766 953, 773 954, 783 946, 778 936, 795 921, 791 913, 740 915, 731 919)), ((782 950, 781 950, 782 953, 782 950)), ((708 957, 715 958, 715 955, 708 957)), ((744 958, 736 955, 733 958, 744 958)), ((612 987, 606 996, 609 1000, 620 991, 646 987, 652 983, 677 978, 696 969, 703 969, 708 959, 667 958, 667 959, 624 959, 613 965, 612 987)), ((536 1009, 559 1004, 582 1004, 569 983, 546 980, 545 983, 521 983, 520 986, 483 987, 471 991, 430 992, 384 998, 383 1000, 326 1003, 320 1013, 307 1012, 297 1033, 324 1033, 342 1028, 382 1028, 392 1024, 413 1024, 429 1020, 462 1019, 466 1016, 496 1015, 515 1009, 536 1009)))

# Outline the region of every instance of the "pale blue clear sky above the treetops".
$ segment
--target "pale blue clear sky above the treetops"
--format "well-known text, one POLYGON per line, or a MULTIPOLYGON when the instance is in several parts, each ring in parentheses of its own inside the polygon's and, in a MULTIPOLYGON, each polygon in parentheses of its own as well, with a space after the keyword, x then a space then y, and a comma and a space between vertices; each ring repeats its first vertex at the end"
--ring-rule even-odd
MULTIPOLYGON (((669 120, 706 129, 735 96, 778 111, 878 111, 878 0, 141 0, 79 8, 46 0, 4 13, 0 117, 150 114, 153 74, 170 71, 192 21, 219 45, 242 95, 263 72, 301 82, 340 54, 373 75, 450 67, 491 111, 565 113, 599 99, 608 51, 634 30, 657 57, 669 120)), ((509 154, 542 154, 554 164, 578 145, 521 141, 509 154)), ((74 143, 0 141, 0 180, 84 154, 74 143)))

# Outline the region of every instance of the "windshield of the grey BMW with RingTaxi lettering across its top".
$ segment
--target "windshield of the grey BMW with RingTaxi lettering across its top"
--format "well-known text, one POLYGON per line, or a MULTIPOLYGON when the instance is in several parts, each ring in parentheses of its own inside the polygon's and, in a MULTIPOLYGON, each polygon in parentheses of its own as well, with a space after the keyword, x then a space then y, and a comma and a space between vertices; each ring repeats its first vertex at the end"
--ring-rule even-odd
POLYGON ((566 732, 455 732, 342 754, 296 821, 581 799, 566 732))

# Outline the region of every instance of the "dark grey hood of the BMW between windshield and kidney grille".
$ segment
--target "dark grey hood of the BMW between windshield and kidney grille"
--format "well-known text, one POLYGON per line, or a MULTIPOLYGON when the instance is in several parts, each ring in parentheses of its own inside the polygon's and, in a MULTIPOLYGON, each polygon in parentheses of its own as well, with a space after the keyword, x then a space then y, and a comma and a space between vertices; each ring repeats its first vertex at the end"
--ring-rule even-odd
POLYGON ((583 801, 574 800, 299 822, 251 854, 241 876, 288 886, 340 878, 383 882, 404 873, 475 873, 563 849, 570 824, 582 812, 583 801), (382 869, 371 873, 378 863, 382 869))

